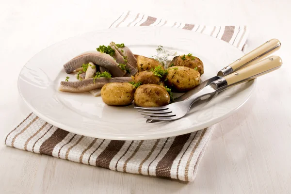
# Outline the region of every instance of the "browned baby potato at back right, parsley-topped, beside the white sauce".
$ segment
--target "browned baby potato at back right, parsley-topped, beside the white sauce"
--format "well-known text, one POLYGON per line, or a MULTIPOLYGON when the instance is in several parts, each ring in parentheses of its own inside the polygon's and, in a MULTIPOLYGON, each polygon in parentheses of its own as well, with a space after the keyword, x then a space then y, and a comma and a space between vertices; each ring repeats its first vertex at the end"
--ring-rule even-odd
POLYGON ((204 73, 204 65, 202 61, 193 56, 191 53, 188 55, 176 56, 171 61, 172 66, 185 66, 197 70, 200 73, 200 76, 204 73))

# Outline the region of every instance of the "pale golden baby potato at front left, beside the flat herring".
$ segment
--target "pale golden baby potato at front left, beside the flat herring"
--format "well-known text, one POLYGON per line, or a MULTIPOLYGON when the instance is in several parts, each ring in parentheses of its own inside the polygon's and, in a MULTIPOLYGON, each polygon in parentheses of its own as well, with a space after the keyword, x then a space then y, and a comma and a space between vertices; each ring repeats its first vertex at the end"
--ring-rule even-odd
POLYGON ((133 101, 134 91, 130 83, 107 83, 101 89, 101 97, 105 104, 124 106, 133 101))

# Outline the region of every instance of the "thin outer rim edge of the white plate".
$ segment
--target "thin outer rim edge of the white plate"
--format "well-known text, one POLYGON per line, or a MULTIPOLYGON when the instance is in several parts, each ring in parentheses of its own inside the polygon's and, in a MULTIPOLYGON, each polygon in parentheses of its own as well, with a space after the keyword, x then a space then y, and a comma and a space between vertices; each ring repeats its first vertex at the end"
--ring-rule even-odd
MULTIPOLYGON (((148 29, 157 29, 157 28, 163 28, 163 29, 173 29, 171 27, 153 27, 153 26, 145 26, 145 27, 120 27, 120 28, 127 28, 127 29, 136 29, 136 28, 148 28, 148 29)), ((119 28, 118 28, 119 29, 119 28)), ((35 53, 26 63, 25 65, 23 65, 23 67, 21 68, 19 74, 18 74, 18 78, 17 78, 17 89, 18 89, 18 93, 20 94, 21 98, 23 99, 23 101, 25 102, 25 104, 32 110, 32 113, 34 113, 35 115, 37 115, 39 118, 43 119, 44 121, 46 121, 47 123, 57 127, 57 128, 60 128, 60 129, 63 129, 63 130, 66 130, 68 132, 72 132, 72 133, 76 133, 76 134, 79 134, 79 135, 84 135, 84 136, 89 136, 89 137, 94 137, 94 138, 99 138, 99 139, 109 139, 109 140, 122 140, 122 141, 127 141, 127 140, 151 140, 151 139, 161 139, 161 138, 167 138, 167 137, 172 137, 172 136, 178 136, 178 135, 182 135, 182 134, 187 134, 187 133, 191 133, 191 132, 194 132, 194 131, 198 131, 198 130, 193 130, 193 126, 190 126, 190 127, 185 127, 183 129, 180 129, 178 131, 171 131, 171 135, 168 134, 168 132, 165 132, 165 133, 155 133, 155 138, 151 138, 149 134, 145 134, 145 135, 128 135, 127 134, 127 137, 122 137, 122 135, 116 135, 116 134, 104 134, 104 133, 98 133, 98 137, 96 136, 91 136, 91 135, 88 135, 88 133, 86 132, 83 132, 83 130, 80 130, 80 129, 76 129, 76 128, 73 128, 73 127, 69 127, 69 126, 66 126, 65 124, 62 124, 62 123, 59 123, 53 119, 50 119, 49 117, 46 117, 45 114, 42 114, 42 113, 39 113, 32 105, 31 103, 29 103, 25 97, 23 96, 23 94, 21 93, 21 90, 20 90, 20 86, 19 86, 19 80, 20 80, 20 75, 21 75, 21 72, 23 71, 24 67, 32 60, 32 58, 37 55, 39 52, 45 50, 45 49, 48 49, 50 47, 53 47, 54 45, 60 43, 60 42, 63 42, 65 40, 68 40, 68 39, 72 39, 72 38, 75 38, 75 37, 80 37, 80 36, 83 36, 85 34, 89 34, 89 33, 98 33, 98 32, 104 32, 104 31, 108 31, 108 30, 112 30, 112 29, 102 29, 102 30, 97 30, 97 31, 91 31, 91 32, 85 32, 85 33, 82 33, 82 34, 78 34, 76 36, 71 36, 71 37, 68 37, 66 39, 63 39, 61 41, 58 41, 44 49, 41 49, 40 51, 38 51, 37 53, 35 53), (167 135, 168 134, 168 135, 167 135)), ((113 29, 113 30, 116 30, 116 29, 113 29)), ((182 29, 177 29, 177 30, 182 30, 182 29)), ((238 51, 242 52, 242 54, 245 54, 242 50, 238 49, 237 47, 231 45, 230 43, 226 42, 226 41, 223 41, 221 39, 218 39, 218 38, 215 38, 213 36, 210 36, 210 35, 207 35, 207 34, 203 34, 203 33, 199 33, 199 32, 195 32, 196 34, 200 34, 200 35, 203 35, 203 36, 207 36, 207 37, 211 37, 216 40, 220 40, 220 42, 223 42, 223 44, 227 44, 229 46, 231 46, 232 48, 234 49, 237 49, 238 51)), ((237 107, 235 107, 234 109, 232 109, 231 111, 229 111, 228 113, 224 114, 223 116, 221 117, 217 117, 217 118, 214 118, 211 120, 211 122, 204 122, 204 123, 201 123, 199 125, 199 130, 202 130, 202 129, 205 129, 205 128, 208 128, 210 126, 213 126, 214 124, 220 122, 220 121, 223 121, 225 120, 227 117, 229 117, 231 114, 237 112, 245 103, 246 101, 249 100, 249 98, 252 96, 252 94, 254 93, 254 89, 256 88, 256 85, 257 85, 257 79, 254 79, 252 80, 252 88, 250 89, 250 93, 249 95, 245 98, 245 100, 237 107)))

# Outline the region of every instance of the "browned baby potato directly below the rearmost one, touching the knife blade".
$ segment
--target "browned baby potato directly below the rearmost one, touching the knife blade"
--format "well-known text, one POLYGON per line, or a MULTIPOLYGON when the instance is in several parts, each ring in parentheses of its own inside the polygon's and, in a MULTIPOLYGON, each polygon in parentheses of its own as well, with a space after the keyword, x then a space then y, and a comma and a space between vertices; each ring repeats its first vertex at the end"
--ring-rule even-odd
POLYGON ((200 74, 189 67, 172 66, 168 68, 165 84, 176 92, 185 92, 200 84, 200 74))

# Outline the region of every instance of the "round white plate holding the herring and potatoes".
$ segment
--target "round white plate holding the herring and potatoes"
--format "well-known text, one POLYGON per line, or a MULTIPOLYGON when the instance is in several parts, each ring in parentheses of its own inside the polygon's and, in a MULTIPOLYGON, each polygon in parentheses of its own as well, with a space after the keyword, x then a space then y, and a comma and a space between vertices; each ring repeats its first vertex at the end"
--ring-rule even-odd
MULTIPOLYGON (((90 93, 58 91, 60 81, 68 76, 63 64, 83 51, 111 41, 125 43, 133 53, 145 56, 155 54, 158 45, 185 54, 191 52, 204 63, 202 81, 243 55, 217 38, 173 28, 133 27, 89 32, 42 50, 23 67, 18 90, 32 112, 56 127, 85 136, 112 140, 157 139, 200 130, 225 119, 242 106, 255 86, 255 81, 234 86, 179 120, 151 124, 146 124, 133 105, 112 107, 90 93)), ((74 75, 69 77, 69 81, 76 80, 74 75)))

